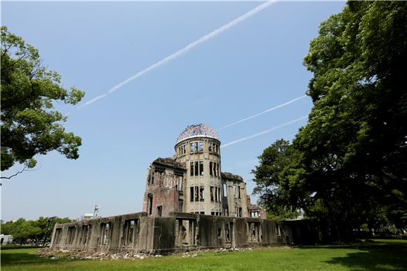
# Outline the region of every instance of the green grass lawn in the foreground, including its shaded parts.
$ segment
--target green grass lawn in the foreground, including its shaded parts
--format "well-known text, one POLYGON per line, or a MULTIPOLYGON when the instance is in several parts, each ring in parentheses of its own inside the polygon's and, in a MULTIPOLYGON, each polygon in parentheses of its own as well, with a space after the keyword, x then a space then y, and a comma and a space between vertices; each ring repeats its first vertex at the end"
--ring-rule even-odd
POLYGON ((407 240, 205 252, 144 260, 41 258, 38 249, 1 251, 1 270, 407 270, 407 240))

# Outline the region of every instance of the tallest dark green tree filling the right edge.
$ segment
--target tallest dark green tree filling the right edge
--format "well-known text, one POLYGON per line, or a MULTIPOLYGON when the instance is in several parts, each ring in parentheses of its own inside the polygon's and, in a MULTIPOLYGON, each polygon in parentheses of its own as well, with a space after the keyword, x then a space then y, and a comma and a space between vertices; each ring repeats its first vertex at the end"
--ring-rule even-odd
POLYGON ((314 106, 293 141, 304 172, 290 176, 302 195, 285 192, 342 237, 382 214, 407 223, 406 63, 405 1, 348 1, 305 57, 314 106))

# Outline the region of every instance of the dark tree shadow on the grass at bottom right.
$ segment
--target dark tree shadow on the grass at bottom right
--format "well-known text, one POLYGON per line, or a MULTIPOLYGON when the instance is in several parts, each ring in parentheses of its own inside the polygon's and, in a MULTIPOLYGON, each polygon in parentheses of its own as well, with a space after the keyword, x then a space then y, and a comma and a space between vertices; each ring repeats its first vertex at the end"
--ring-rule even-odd
POLYGON ((344 265, 352 271, 407 270, 407 242, 362 242, 334 246, 303 246, 300 249, 356 249, 345 257, 335 257, 326 263, 344 265))

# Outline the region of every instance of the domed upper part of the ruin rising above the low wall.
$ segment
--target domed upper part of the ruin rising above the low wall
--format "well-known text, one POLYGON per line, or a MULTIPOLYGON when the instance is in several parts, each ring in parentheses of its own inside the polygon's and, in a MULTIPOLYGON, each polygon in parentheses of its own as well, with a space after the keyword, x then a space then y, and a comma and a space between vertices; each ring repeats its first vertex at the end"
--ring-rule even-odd
POLYGON ((157 158, 147 169, 143 211, 248 217, 246 183, 222 172, 218 133, 209 125, 189 125, 175 143, 172 158, 157 158))

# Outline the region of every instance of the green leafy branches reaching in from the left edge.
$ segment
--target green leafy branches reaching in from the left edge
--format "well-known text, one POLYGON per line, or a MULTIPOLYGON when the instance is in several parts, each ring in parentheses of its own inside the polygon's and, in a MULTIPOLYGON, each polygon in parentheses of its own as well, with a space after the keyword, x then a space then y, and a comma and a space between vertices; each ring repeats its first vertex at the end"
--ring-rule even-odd
POLYGON ((78 158, 81 138, 65 132, 61 123, 67 117, 54 109, 54 102, 76 104, 84 92, 62 88, 60 75, 46 70, 38 50, 4 26, 0 55, 1 171, 15 162, 32 168, 35 155, 53 150, 69 159, 78 158))

